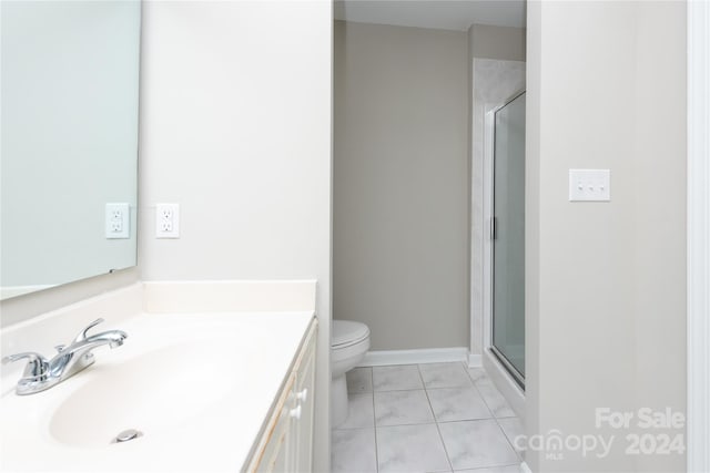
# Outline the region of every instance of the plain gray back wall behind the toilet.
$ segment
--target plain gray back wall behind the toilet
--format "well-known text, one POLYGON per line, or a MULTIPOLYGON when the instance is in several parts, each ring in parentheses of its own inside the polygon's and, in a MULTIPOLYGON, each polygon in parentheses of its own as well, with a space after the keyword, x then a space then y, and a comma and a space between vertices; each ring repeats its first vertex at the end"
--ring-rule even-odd
POLYGON ((466 32, 335 22, 333 316, 468 345, 466 32))

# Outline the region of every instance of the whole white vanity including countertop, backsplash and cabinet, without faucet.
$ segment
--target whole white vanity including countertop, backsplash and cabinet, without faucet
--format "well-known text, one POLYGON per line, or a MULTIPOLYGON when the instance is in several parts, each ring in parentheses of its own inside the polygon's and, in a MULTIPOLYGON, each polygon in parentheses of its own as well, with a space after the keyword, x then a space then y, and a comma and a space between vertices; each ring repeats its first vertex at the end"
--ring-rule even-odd
POLYGON ((14 393, 23 363, 3 367, 0 470, 312 472, 315 295, 315 280, 136 282, 3 327, 0 357, 49 353, 97 313, 129 338, 39 394, 14 393), (125 429, 144 435, 111 442, 125 429))

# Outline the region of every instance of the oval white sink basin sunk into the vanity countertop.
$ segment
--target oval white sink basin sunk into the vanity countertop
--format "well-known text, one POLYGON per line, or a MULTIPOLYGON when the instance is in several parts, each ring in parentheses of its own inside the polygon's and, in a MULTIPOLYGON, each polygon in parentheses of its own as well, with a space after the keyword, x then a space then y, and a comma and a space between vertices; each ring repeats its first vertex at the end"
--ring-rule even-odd
MULTIPOLYGON (((101 356, 109 358, 116 351, 101 356)), ((75 446, 109 445, 126 429, 143 434, 134 441, 172 431, 234 389, 237 377, 226 362, 233 358, 229 351, 204 342, 184 343, 120 364, 91 367, 94 379, 57 408, 49 431, 75 446)))

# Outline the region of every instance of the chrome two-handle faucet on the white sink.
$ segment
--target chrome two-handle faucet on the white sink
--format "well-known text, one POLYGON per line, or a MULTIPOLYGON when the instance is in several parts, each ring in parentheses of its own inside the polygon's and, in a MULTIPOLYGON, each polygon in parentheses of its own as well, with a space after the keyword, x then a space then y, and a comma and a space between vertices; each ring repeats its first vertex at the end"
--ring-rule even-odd
POLYGON ((122 346, 123 340, 128 337, 128 333, 122 330, 108 330, 87 336, 90 329, 101 322, 103 322, 103 319, 97 319, 89 323, 69 346, 60 345, 55 347, 57 354, 51 360, 32 351, 4 357, 2 359, 3 364, 26 358, 28 360, 22 378, 18 381, 16 392, 19 395, 24 395, 48 390, 91 366, 95 361, 92 353, 94 348, 104 345, 110 348, 122 346))

